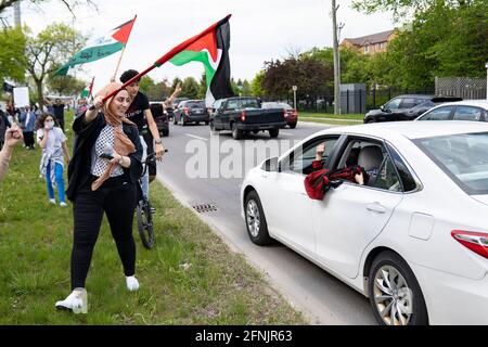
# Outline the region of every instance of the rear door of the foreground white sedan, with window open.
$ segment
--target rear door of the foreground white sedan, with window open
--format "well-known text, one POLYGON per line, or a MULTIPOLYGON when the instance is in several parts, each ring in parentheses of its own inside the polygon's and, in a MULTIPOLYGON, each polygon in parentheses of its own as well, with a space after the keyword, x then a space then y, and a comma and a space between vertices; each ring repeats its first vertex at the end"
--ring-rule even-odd
POLYGON ((402 200, 398 175, 381 141, 348 139, 335 167, 344 167, 349 154, 358 149, 358 163, 361 164, 368 152, 364 149, 372 146, 376 146, 378 158, 372 167, 364 167, 370 172, 370 181, 365 185, 346 181, 330 190, 323 201, 311 203, 317 260, 351 279, 359 273, 364 248, 382 232, 402 200))

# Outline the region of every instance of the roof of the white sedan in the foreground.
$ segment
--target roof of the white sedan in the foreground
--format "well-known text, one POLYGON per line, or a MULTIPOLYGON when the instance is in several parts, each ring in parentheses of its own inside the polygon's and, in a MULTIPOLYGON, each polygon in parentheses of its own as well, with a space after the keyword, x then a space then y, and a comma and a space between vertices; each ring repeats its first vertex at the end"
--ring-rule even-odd
MULTIPOLYGON (((399 137, 410 140, 455 133, 488 131, 488 123, 470 120, 385 121, 357 126, 336 127, 320 131, 320 134, 363 134, 395 141, 399 137)), ((317 134, 316 134, 317 136, 317 134)))

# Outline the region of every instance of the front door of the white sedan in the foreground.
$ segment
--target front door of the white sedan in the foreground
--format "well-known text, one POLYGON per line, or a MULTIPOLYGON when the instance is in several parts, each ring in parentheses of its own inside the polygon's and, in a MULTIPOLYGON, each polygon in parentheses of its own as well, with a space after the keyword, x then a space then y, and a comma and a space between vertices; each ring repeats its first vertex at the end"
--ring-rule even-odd
POLYGON ((317 146, 325 142, 325 163, 337 139, 338 136, 333 136, 308 141, 281 160, 280 172, 266 172, 266 195, 271 200, 265 209, 268 228, 282 241, 310 256, 313 256, 316 247, 311 218, 312 201, 305 191, 304 180, 306 175, 312 171, 317 146))

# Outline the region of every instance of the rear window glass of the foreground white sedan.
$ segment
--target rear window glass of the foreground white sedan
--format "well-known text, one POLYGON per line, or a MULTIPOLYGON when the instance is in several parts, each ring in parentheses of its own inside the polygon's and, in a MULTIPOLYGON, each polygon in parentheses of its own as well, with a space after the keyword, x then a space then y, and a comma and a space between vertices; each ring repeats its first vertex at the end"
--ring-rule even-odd
POLYGON ((467 194, 488 194, 488 132, 414 141, 467 194))

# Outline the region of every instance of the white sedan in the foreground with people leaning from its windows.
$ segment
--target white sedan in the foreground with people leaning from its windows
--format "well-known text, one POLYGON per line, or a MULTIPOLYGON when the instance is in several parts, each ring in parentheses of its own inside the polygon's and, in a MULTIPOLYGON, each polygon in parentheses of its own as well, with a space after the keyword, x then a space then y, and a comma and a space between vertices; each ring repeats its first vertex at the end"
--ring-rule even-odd
POLYGON ((251 240, 278 240, 370 298, 381 324, 488 324, 488 124, 401 121, 320 131, 246 175, 251 240), (322 201, 304 179, 360 165, 322 201))

